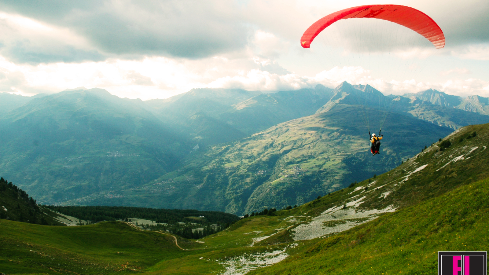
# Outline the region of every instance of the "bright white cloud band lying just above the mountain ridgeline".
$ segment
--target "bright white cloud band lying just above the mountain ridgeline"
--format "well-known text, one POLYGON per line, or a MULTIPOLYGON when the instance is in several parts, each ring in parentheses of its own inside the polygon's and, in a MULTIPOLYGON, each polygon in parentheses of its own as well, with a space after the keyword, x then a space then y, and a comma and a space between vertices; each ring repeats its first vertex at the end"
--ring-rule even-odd
MULTIPOLYGON (((193 88, 239 88, 273 92, 313 88, 317 84, 334 88, 346 80, 351 84, 369 84, 384 94, 403 94, 432 88, 460 96, 489 96, 489 82, 476 78, 419 82, 414 79, 375 78, 371 71, 362 67, 335 67, 314 76, 299 75, 280 68, 275 61, 259 57, 229 59, 216 56, 205 62, 147 57, 142 61, 107 60, 37 66, 20 66, 0 59, 0 89, 1 92, 32 95, 85 86, 103 88, 120 97, 146 100, 166 98, 193 88), (278 69, 274 69, 274 66, 278 69)), ((466 72, 465 69, 451 71, 466 72)))

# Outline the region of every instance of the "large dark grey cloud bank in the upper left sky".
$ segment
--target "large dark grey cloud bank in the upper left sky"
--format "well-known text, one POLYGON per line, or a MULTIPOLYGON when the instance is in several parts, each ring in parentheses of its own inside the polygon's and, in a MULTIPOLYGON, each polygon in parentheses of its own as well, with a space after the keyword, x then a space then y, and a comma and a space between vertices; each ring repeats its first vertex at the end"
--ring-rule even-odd
MULTIPOLYGON (((233 15, 236 9, 231 1, 4 0, 0 9, 68 27, 85 37, 95 48, 88 52, 72 49, 73 60, 100 60, 102 54, 98 52, 123 58, 137 55, 201 58, 243 48, 250 35, 250 27, 233 15)), ((10 50, 10 54, 31 62, 67 58, 22 48, 10 50)))

